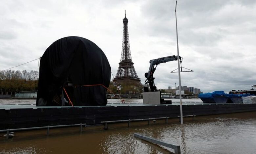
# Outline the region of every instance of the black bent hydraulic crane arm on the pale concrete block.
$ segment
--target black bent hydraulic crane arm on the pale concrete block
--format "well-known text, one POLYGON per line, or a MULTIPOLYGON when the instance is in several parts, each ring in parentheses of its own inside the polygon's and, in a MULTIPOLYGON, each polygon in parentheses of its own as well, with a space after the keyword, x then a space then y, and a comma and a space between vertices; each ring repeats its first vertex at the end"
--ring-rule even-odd
MULTIPOLYGON (((157 87, 155 86, 154 83, 154 77, 153 74, 157 68, 157 65, 160 63, 166 63, 169 61, 174 61, 174 60, 178 60, 177 56, 173 55, 173 56, 168 56, 168 57, 162 57, 162 58, 158 58, 158 59, 153 59, 150 60, 150 67, 147 73, 145 73, 145 77, 147 78, 145 81, 145 84, 149 84, 150 90, 153 91, 157 91, 157 87)), ((182 63, 183 58, 181 58, 180 56, 180 63, 182 63)))

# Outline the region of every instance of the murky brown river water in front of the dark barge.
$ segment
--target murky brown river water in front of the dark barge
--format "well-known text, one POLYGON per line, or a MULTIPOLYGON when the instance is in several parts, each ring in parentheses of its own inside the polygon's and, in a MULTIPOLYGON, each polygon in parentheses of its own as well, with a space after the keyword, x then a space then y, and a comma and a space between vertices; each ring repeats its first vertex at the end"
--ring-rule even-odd
POLYGON ((169 119, 168 124, 157 120, 151 125, 144 121, 131 122, 129 128, 127 123, 109 124, 108 128, 104 130, 103 125, 86 127, 82 133, 79 127, 50 129, 49 136, 46 130, 15 132, 15 137, 8 141, 0 137, 0 153, 174 152, 135 138, 134 133, 180 145, 184 154, 256 153, 256 112, 197 116, 194 121, 186 117, 184 125, 179 124, 178 119, 169 119))

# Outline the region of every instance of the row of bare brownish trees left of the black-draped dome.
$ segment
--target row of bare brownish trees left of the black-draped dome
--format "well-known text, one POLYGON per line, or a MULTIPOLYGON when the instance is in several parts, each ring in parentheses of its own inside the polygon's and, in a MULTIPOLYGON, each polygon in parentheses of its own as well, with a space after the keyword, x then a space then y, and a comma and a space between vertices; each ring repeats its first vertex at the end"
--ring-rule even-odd
POLYGON ((0 71, 0 91, 37 91, 39 72, 37 70, 0 71))

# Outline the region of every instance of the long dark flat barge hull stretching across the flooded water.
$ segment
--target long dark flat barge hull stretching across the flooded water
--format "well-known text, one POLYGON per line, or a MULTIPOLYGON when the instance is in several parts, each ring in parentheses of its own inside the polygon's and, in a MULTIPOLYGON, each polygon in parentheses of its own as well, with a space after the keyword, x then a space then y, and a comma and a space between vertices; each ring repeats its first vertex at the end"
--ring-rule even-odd
MULTIPOLYGON (((213 115, 256 111, 256 104, 185 104, 183 115, 213 115)), ((180 116, 180 105, 144 105, 142 103, 112 103, 107 106, 35 106, 35 104, 1 104, 0 129, 102 121, 180 116)))

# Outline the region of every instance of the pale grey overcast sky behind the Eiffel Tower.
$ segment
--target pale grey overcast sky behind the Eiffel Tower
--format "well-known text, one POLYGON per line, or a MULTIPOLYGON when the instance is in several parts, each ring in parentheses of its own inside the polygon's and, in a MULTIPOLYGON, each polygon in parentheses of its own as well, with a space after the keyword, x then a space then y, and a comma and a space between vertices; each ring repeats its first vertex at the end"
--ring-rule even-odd
MULTIPOLYGON (((54 41, 80 36, 106 54, 114 76, 122 50, 124 10, 132 60, 144 83, 149 60, 177 55, 174 0, 1 0, 0 70, 43 55, 54 41)), ((256 84, 256 1, 177 2, 181 85, 203 92, 250 89, 256 84)), ((158 88, 178 85, 177 61, 160 64, 158 88)), ((15 70, 39 70, 38 61, 15 70)))

